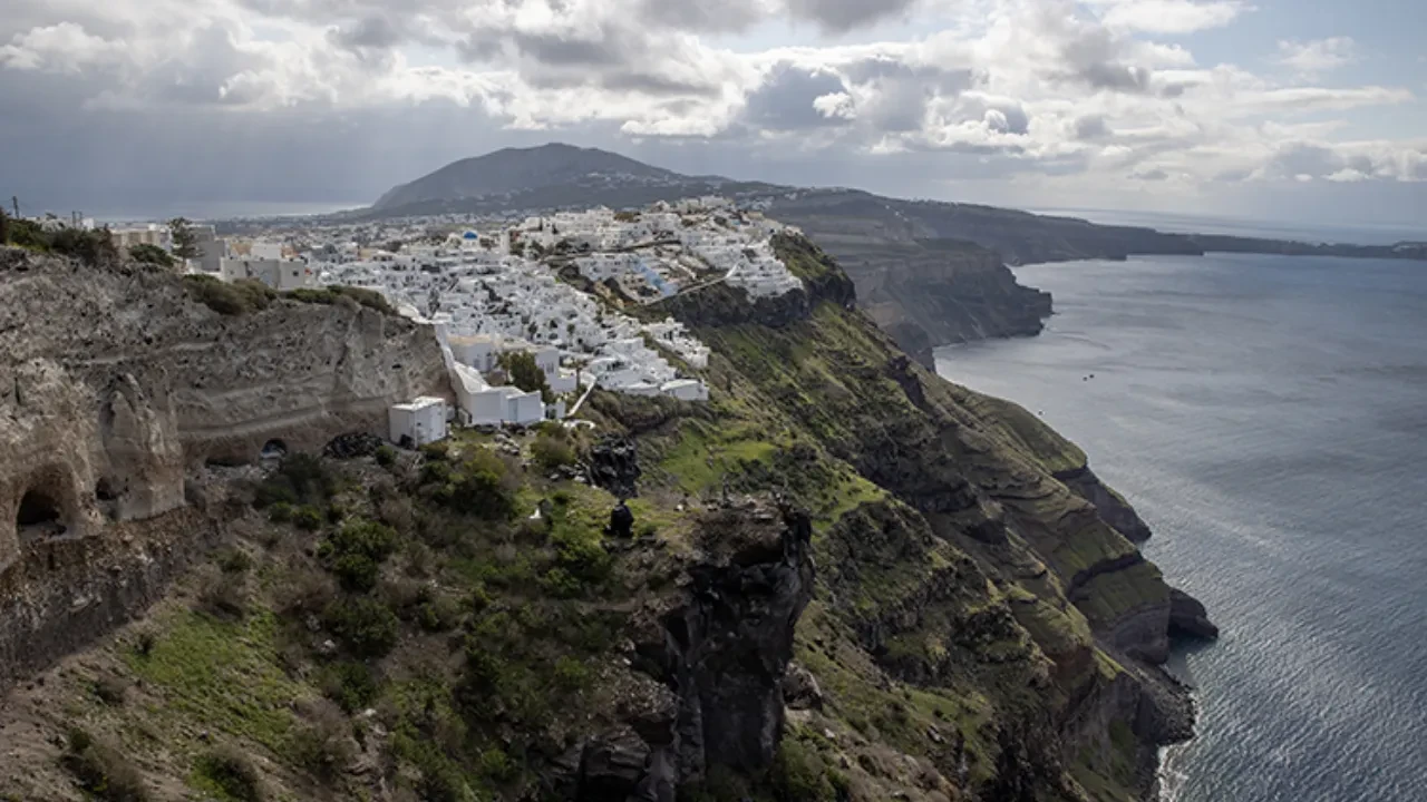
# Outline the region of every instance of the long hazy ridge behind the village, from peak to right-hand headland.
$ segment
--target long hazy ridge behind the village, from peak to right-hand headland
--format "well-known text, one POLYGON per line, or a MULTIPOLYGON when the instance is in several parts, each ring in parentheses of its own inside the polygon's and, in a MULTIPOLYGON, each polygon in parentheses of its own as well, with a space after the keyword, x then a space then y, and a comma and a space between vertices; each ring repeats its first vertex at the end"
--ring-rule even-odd
POLYGON ((1033 335, 1050 295, 1023 287, 1006 264, 1123 260, 1134 254, 1236 251, 1427 260, 1420 243, 1330 245, 1099 225, 990 205, 889 198, 848 188, 799 188, 684 176, 567 144, 507 148, 402 184, 347 220, 642 207, 721 194, 756 203, 798 225, 856 283, 859 303, 925 364, 938 345, 1033 335))

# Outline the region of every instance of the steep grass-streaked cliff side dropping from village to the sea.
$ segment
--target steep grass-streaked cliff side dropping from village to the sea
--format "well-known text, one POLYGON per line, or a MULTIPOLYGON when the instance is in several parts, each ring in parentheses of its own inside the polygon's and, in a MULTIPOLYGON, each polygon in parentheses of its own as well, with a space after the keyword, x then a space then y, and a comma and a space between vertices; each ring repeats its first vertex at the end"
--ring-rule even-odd
POLYGON ((719 318, 722 291, 675 311, 714 350, 709 410, 596 408, 658 461, 645 484, 809 507, 819 579, 795 655, 825 701, 785 742, 823 734, 858 799, 1140 798, 1156 746, 1192 725, 1156 668, 1172 591, 1127 539, 1143 524, 1025 410, 899 352, 808 241, 779 247, 812 278, 785 304, 806 315, 719 318), (888 768, 905 759, 929 773, 888 768))

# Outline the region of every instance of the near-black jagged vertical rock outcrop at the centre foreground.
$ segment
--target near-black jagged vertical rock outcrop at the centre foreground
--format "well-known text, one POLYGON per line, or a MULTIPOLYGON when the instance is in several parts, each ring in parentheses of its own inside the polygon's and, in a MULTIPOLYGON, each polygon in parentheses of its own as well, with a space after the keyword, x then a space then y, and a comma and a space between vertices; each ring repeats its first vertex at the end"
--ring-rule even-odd
POLYGON ((793 632, 812 598, 805 514, 748 501, 708 511, 682 592, 641 611, 636 665, 658 685, 626 724, 572 748, 551 786, 579 802, 674 802, 719 766, 769 766, 783 734, 793 632))

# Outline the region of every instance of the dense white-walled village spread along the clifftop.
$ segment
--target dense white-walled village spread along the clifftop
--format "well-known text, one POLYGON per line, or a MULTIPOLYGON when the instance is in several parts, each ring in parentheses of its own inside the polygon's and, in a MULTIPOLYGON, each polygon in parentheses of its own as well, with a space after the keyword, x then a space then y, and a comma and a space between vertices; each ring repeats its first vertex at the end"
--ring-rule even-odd
MULTIPOLYGON (((374 290, 404 317, 431 325, 455 408, 414 398, 390 414, 394 442, 422 445, 445 438, 448 424, 564 420, 595 387, 706 401, 709 388, 694 371, 708 367, 708 347, 669 317, 635 320, 605 298, 658 310, 719 283, 752 297, 782 295, 801 287, 773 254, 772 237, 785 230, 719 197, 644 211, 562 211, 485 230, 405 218, 240 240, 198 225, 200 255, 187 270, 278 291, 374 290), (518 352, 532 357, 548 391, 509 381, 507 360, 518 352)), ((166 234, 158 225, 113 233, 120 245, 160 247, 168 245, 166 234)))

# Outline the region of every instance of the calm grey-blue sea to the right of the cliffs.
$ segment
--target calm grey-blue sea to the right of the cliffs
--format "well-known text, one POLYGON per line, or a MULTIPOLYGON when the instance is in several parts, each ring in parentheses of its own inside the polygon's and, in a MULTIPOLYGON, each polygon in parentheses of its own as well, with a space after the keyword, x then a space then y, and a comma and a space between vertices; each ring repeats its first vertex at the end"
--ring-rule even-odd
POLYGON ((1030 340, 942 375, 1079 442, 1223 629, 1180 655, 1176 802, 1427 799, 1427 264, 1212 255, 1017 270, 1030 340), (1085 380, 1089 374, 1093 380, 1085 380))

